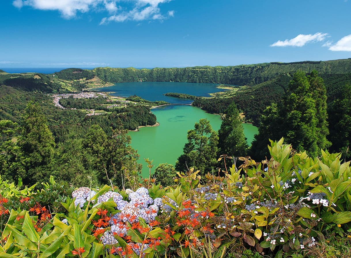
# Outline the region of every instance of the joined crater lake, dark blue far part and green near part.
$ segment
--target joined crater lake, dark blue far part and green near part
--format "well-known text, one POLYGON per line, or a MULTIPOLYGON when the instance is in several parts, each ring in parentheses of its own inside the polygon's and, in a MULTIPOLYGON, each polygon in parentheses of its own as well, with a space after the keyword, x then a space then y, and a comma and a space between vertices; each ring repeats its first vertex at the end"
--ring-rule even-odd
MULTIPOLYGON (((187 82, 128 82, 116 83, 114 86, 95 89, 98 91, 113 91, 111 95, 128 97, 138 95, 146 100, 164 100, 173 104, 190 104, 193 100, 178 99, 164 96, 167 92, 186 93, 195 96, 210 96, 209 93, 224 91, 213 83, 187 82)), ((201 118, 210 120, 212 128, 218 130, 221 125, 219 115, 208 114, 197 107, 185 105, 169 105, 151 109, 157 117, 159 126, 142 127, 139 131, 130 131, 132 147, 138 150, 139 163, 143 164, 142 174, 148 177, 149 169, 144 158, 153 159, 152 172, 160 163, 175 164, 177 158, 183 154, 184 144, 187 142, 186 133, 194 128, 194 124, 201 118)), ((243 124, 247 142, 251 144, 258 133, 252 124, 243 124)))

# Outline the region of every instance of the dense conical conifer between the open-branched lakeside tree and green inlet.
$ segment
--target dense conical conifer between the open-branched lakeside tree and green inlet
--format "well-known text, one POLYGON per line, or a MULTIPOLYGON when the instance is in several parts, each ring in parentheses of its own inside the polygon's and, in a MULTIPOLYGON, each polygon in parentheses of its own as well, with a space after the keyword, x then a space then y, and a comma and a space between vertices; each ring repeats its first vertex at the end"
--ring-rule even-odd
POLYGON ((226 110, 218 131, 219 155, 227 154, 233 157, 246 156, 247 145, 243 124, 239 111, 234 102, 226 110))

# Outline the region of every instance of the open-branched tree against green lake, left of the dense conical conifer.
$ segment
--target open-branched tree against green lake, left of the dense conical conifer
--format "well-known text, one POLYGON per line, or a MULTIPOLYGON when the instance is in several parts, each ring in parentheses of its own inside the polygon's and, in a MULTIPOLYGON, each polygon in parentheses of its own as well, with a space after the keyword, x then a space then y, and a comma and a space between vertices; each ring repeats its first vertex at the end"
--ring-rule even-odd
POLYGON ((184 154, 176 162, 176 170, 186 171, 194 167, 202 173, 211 172, 217 162, 218 134, 212 129, 210 121, 201 118, 194 129, 188 130, 187 139, 184 154))

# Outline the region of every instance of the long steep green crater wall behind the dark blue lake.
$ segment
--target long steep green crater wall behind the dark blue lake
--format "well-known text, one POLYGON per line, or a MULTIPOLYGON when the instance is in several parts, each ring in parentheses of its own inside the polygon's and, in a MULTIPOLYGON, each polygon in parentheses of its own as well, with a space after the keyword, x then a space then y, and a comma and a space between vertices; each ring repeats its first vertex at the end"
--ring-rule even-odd
POLYGON ((312 70, 317 70, 320 74, 350 73, 351 59, 185 68, 135 69, 98 67, 94 68, 92 73, 101 80, 112 83, 134 82, 141 79, 143 81, 223 83, 254 86, 299 69, 307 73, 310 73, 312 70))

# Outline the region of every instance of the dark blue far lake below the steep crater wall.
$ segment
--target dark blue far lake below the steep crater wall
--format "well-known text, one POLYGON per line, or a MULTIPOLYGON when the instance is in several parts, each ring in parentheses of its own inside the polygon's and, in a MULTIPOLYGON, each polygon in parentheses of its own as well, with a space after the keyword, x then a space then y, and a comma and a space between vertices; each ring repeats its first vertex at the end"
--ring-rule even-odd
POLYGON ((178 99, 163 94, 167 92, 186 93, 199 97, 210 97, 209 93, 224 91, 213 83, 187 83, 187 82, 126 82, 114 86, 98 88, 99 91, 113 91, 111 95, 129 97, 138 95, 150 101, 164 100, 174 104, 190 104, 193 100, 178 99))

